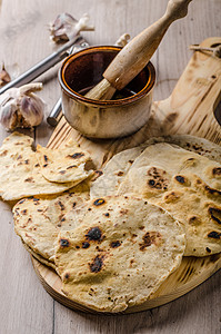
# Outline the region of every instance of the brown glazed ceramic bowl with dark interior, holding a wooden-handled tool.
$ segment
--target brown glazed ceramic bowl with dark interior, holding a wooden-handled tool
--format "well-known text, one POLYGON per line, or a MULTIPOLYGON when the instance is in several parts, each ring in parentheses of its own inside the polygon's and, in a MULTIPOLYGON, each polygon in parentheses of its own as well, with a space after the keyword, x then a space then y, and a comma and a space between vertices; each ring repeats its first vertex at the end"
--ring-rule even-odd
POLYGON ((83 95, 103 78, 118 47, 92 47, 69 56, 59 71, 67 121, 89 138, 118 138, 139 130, 149 119, 155 70, 151 62, 112 100, 83 95))

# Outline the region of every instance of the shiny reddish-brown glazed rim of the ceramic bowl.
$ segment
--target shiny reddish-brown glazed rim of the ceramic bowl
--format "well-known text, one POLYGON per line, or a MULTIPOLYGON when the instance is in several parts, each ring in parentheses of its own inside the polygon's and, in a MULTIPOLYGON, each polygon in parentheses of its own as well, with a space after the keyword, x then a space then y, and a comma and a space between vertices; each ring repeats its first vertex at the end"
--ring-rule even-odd
POLYGON ((145 86, 137 94, 134 94, 130 97, 127 97, 127 98, 115 99, 115 100, 94 100, 94 99, 90 99, 83 95, 78 94, 77 91, 71 89, 70 86, 67 84, 67 81, 64 79, 66 69, 77 58, 81 57, 82 55, 88 55, 91 52, 94 53, 98 51, 100 51, 100 52, 102 52, 102 51, 120 51, 121 49, 122 49, 121 47, 117 47, 117 46, 94 46, 94 47, 89 47, 83 50, 80 50, 73 55, 70 55, 69 57, 67 57, 64 59, 64 61, 61 65, 61 68, 59 69, 59 72, 58 72, 58 78, 59 78, 59 84, 61 86, 61 89, 72 99, 76 99, 76 100, 84 102, 84 104, 96 105, 96 106, 101 106, 101 107, 102 106, 112 107, 112 106, 118 106, 118 105, 120 105, 120 106, 129 105, 129 104, 135 102, 137 100, 147 96, 147 94, 149 91, 151 91, 151 89, 153 88, 153 86, 155 84, 155 69, 151 61, 149 61, 148 65, 144 67, 148 69, 148 72, 149 72, 149 78, 148 78, 145 86))

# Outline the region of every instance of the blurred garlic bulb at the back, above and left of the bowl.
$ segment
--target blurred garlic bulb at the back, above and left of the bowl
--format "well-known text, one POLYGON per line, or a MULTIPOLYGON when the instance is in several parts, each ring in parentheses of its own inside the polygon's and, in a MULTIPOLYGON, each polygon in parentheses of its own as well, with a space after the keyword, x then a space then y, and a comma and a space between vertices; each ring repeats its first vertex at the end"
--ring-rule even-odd
POLYGON ((61 13, 50 24, 51 38, 54 42, 62 42, 73 39, 80 31, 94 30, 93 27, 88 26, 88 21, 87 13, 79 21, 69 13, 61 13))

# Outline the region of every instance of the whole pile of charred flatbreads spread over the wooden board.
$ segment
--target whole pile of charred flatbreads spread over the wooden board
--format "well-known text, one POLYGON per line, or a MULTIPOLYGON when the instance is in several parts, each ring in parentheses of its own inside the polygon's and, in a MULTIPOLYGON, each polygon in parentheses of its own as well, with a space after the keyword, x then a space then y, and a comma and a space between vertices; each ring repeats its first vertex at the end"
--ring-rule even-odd
POLYGON ((0 194, 26 248, 63 293, 100 312, 144 303, 183 256, 221 252, 221 148, 192 136, 121 151, 92 178, 70 141, 52 150, 23 135, 0 149, 0 194))

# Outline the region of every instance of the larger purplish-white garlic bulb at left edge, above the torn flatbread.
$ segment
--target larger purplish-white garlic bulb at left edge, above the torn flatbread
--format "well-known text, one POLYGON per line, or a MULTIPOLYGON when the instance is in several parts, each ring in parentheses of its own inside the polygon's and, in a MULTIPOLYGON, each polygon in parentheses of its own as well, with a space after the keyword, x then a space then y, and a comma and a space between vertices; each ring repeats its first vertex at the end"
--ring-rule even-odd
POLYGON ((0 96, 0 121, 8 130, 32 128, 43 119, 46 104, 33 91, 41 90, 42 84, 28 84, 11 88, 0 96))

